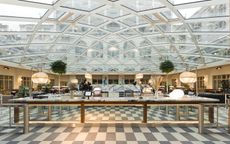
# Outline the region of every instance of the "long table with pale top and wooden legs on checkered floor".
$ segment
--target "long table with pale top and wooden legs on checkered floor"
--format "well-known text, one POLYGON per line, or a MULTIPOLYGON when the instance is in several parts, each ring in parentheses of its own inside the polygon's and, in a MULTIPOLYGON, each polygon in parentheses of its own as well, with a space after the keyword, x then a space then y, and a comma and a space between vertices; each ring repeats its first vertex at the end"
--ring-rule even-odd
MULTIPOLYGON (((202 98, 196 96, 184 96, 182 98, 150 98, 144 97, 142 99, 134 97, 123 97, 123 98, 110 98, 100 97, 91 99, 66 99, 66 98, 49 98, 49 99, 31 99, 31 98, 19 98, 11 100, 14 103, 24 104, 24 133, 29 132, 29 107, 31 106, 48 106, 48 120, 51 119, 51 106, 80 106, 81 123, 85 123, 85 106, 136 106, 140 105, 143 108, 143 119, 142 123, 147 123, 147 111, 148 106, 152 105, 176 105, 176 106, 196 106, 198 108, 198 131, 203 133, 204 129, 204 105, 218 102, 216 99, 202 98)), ((178 113, 178 110, 177 112, 178 113)))

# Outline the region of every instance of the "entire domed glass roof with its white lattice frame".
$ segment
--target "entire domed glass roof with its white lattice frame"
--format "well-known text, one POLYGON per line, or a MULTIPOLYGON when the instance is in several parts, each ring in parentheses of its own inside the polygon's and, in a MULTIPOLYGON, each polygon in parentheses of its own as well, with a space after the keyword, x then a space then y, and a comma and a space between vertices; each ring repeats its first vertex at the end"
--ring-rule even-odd
POLYGON ((229 9, 229 0, 0 1, 0 60, 47 70, 63 60, 72 74, 226 64, 229 9))

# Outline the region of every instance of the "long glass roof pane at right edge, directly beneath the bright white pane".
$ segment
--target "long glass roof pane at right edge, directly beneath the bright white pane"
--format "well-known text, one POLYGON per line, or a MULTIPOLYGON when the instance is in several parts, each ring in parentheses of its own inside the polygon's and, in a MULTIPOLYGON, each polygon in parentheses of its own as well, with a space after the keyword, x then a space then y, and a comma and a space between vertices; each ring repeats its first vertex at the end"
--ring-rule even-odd
POLYGON ((228 31, 227 20, 225 21, 204 21, 189 23, 192 31, 228 31))

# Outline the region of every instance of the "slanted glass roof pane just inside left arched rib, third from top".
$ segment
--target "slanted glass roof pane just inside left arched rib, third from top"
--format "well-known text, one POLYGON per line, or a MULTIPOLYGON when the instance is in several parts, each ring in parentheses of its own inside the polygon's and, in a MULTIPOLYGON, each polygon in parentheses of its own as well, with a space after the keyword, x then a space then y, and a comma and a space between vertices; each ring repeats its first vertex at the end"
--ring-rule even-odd
POLYGON ((55 34, 36 34, 32 43, 52 43, 57 39, 55 34))

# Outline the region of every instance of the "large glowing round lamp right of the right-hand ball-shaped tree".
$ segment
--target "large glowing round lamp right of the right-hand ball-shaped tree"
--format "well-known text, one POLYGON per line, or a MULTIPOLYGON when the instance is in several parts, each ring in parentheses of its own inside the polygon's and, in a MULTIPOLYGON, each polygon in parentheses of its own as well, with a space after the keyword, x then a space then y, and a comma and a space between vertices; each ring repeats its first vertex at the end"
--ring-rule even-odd
POLYGON ((197 80, 196 77, 195 73, 186 71, 180 74, 180 81, 182 83, 194 83, 197 80))

